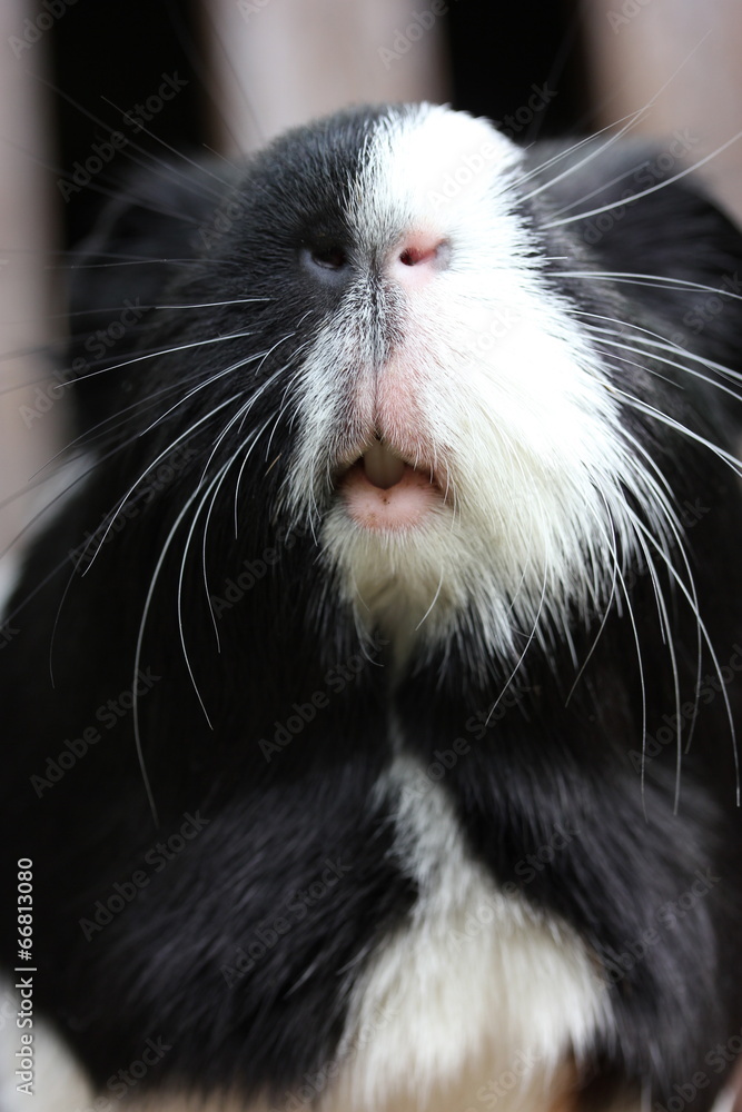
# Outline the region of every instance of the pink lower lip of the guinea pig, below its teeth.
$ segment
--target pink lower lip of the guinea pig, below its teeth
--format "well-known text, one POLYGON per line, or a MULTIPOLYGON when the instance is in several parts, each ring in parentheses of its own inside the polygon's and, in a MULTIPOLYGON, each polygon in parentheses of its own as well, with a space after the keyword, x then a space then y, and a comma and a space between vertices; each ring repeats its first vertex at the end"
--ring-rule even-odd
POLYGON ((405 464, 397 483, 379 487, 369 480, 359 459, 342 477, 338 489, 353 520, 372 530, 414 528, 443 502, 441 488, 429 473, 415 470, 409 464, 405 464))

